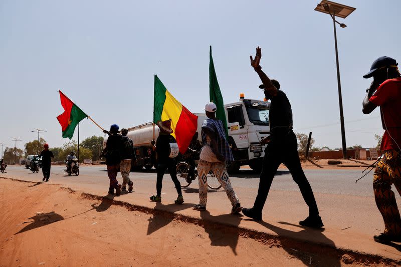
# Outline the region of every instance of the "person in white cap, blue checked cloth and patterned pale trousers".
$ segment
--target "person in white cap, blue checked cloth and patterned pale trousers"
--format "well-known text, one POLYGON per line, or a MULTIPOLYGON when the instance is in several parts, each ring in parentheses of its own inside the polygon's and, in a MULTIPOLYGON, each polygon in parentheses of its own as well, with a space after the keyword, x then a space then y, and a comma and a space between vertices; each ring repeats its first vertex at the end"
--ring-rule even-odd
POLYGON ((212 169, 218 181, 223 186, 228 198, 233 205, 232 214, 241 211, 240 200, 238 199, 230 178, 227 173, 226 164, 234 161, 231 148, 226 139, 223 123, 216 118, 216 104, 208 103, 205 106, 206 116, 208 117, 202 124, 202 143, 200 160, 197 165, 199 179, 199 204, 193 206, 195 210, 206 210, 208 201, 208 178, 207 175, 212 169))

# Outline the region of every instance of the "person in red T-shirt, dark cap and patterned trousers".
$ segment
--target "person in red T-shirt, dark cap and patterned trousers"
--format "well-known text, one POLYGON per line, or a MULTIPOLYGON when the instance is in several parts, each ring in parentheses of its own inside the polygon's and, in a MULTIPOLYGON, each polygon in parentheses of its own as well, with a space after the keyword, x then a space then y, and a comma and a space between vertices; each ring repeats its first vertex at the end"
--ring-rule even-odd
POLYGON ((374 235, 376 242, 401 242, 401 217, 391 185, 401 194, 401 75, 397 63, 389 57, 376 59, 363 78, 373 77, 362 103, 363 114, 380 107, 384 131, 380 150, 384 156, 377 162, 373 175, 373 192, 384 220, 384 232, 374 235))

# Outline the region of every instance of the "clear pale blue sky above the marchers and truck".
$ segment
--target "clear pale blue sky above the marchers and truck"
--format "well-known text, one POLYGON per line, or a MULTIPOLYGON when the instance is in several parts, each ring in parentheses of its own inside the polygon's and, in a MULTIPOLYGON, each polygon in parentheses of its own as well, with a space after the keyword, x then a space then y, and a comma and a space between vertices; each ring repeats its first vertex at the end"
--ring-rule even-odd
MULTIPOLYGON (((0 2, 0 143, 24 148, 41 134, 61 146, 61 89, 100 125, 152 120, 153 75, 192 112, 209 101, 209 46, 225 103, 263 99, 249 56, 281 83, 294 131, 315 146, 341 147, 333 24, 320 1, 7 1, 0 2)), ((379 110, 361 112, 379 56, 401 61, 401 2, 349 1, 337 27, 347 146, 376 145, 379 110)), ((90 120, 80 139, 103 133, 90 120)), ((77 131, 74 138, 77 139, 77 131)))

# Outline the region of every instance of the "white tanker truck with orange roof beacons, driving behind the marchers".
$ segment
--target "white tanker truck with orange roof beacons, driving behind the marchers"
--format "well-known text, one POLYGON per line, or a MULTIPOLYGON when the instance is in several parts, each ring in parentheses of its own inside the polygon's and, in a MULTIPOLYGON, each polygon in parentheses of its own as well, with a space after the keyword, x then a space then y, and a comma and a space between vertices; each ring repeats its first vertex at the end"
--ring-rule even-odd
MULTIPOLYGON (((235 162, 228 166, 228 171, 233 173, 241 166, 249 165, 251 169, 260 172, 264 156, 264 147, 260 145, 260 141, 270 133, 270 102, 245 99, 244 94, 241 94, 238 102, 226 104, 224 108, 229 133, 228 142, 235 159, 235 162)), ((202 123, 207 117, 203 113, 194 114, 198 116, 197 132, 200 140, 202 123)), ((150 170, 157 164, 151 143, 159 136, 157 125, 148 122, 131 127, 127 136, 134 143, 137 158, 137 164, 132 168, 138 170, 145 167, 146 170, 150 170)), ((106 146, 106 141, 107 137, 103 141, 103 147, 106 146)))

